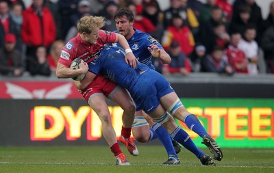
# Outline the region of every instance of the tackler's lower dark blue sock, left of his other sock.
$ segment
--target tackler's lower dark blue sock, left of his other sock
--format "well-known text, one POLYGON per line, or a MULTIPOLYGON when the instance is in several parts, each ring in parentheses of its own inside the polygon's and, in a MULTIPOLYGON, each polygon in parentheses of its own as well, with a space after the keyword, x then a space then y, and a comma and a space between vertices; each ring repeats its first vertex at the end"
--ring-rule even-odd
POLYGON ((192 139, 190 138, 188 133, 186 133, 186 131, 184 131, 183 129, 177 127, 175 131, 171 133, 171 137, 173 137, 175 141, 179 142, 179 144, 182 144, 184 148, 190 150, 193 154, 195 154, 198 159, 200 159, 201 155, 203 155, 204 152, 197 148, 194 142, 192 142, 192 139))

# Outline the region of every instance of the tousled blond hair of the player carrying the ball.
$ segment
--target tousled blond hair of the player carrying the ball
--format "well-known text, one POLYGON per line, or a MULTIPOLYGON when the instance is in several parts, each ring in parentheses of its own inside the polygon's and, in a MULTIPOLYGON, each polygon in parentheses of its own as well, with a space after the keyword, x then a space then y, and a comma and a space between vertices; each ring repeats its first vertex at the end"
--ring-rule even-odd
POLYGON ((86 32, 86 34, 92 33, 95 28, 101 28, 105 25, 105 18, 102 16, 84 16, 80 18, 79 23, 77 23, 77 29, 79 34, 86 32))

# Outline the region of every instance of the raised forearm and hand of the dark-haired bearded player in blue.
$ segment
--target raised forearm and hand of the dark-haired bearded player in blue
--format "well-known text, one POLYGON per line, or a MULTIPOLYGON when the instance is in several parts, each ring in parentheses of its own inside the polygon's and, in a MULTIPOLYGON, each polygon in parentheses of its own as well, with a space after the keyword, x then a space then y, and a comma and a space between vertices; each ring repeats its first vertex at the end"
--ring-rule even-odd
POLYGON ((150 44, 150 46, 151 47, 148 47, 147 49, 149 49, 149 52, 153 57, 158 58, 163 64, 171 63, 171 56, 169 56, 169 53, 166 53, 164 49, 159 49, 155 44, 150 44))

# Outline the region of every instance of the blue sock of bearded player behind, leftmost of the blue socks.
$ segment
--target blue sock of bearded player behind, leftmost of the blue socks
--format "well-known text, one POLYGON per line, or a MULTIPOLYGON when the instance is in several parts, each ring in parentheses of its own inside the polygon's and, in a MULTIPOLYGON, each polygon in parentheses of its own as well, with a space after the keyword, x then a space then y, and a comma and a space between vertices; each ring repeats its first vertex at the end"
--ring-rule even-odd
POLYGON ((166 131, 166 129, 164 129, 164 127, 162 127, 158 122, 156 122, 152 126, 152 128, 150 128, 150 131, 153 134, 153 136, 151 136, 149 138, 149 141, 156 139, 156 137, 158 137, 158 139, 160 140, 160 142, 162 143, 164 148, 166 148, 167 155, 168 156, 174 155, 176 158, 178 158, 178 156, 173 148, 173 144, 171 142, 171 136, 166 131), (154 133, 152 131, 154 131, 154 133))

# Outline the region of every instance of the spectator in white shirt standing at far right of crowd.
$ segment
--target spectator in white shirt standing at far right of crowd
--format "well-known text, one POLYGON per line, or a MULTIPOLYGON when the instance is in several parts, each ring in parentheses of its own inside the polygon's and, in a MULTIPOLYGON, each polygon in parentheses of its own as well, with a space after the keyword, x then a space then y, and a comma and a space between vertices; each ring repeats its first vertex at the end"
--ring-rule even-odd
POLYGON ((244 37, 240 40, 238 48, 245 53, 248 59, 247 70, 250 75, 258 75, 258 43, 256 38, 256 27, 252 25, 245 29, 244 37))

